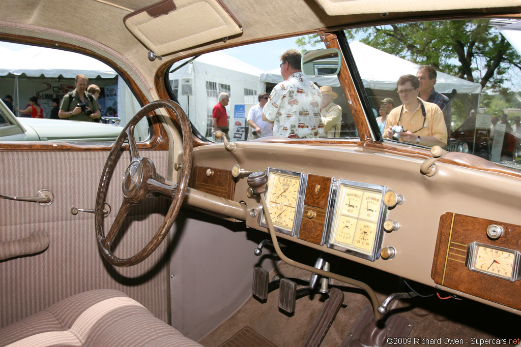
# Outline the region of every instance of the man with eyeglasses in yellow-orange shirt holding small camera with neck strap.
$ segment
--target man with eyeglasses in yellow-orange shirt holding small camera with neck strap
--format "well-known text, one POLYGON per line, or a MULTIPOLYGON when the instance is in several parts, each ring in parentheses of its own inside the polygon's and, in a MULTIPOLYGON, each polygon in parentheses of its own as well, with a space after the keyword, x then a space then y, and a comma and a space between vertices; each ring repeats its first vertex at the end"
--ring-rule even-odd
POLYGON ((424 146, 445 146, 447 129, 443 112, 436 104, 418 98, 419 81, 414 75, 403 75, 396 83, 403 105, 389 113, 384 138, 392 138, 393 126, 401 125, 400 141, 424 146))

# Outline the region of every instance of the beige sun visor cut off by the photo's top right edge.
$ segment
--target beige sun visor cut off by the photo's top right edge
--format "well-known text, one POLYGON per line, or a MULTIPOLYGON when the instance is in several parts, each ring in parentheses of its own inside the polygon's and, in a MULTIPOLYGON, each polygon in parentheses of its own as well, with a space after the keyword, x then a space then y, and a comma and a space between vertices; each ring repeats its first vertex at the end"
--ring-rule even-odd
POLYGON ((519 7, 521 0, 315 0, 329 16, 519 7))

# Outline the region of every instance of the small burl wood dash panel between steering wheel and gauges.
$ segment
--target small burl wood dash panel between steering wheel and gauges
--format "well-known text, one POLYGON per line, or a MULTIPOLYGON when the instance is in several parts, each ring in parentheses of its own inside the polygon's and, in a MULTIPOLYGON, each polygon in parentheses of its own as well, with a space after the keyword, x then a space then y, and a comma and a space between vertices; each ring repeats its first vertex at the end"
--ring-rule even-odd
POLYGON ((206 166, 195 166, 193 188, 209 194, 233 200, 235 181, 230 170, 207 168, 206 166), (206 175, 210 170, 212 174, 206 175))

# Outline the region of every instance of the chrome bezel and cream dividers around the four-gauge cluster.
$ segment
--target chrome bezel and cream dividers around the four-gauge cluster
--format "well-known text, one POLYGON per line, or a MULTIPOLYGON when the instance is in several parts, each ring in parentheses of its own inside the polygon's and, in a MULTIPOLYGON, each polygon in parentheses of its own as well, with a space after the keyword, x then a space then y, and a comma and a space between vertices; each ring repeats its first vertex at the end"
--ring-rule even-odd
MULTIPOLYGON (((383 231, 383 222, 386 220, 387 217, 387 211, 388 207, 383 202, 383 196, 386 194, 386 192, 389 189, 386 186, 380 186, 380 185, 374 185, 374 184, 367 184, 367 183, 361 183, 361 182, 354 182, 354 181, 348 181, 346 179, 333 179, 333 182, 331 184, 331 193, 329 195, 329 202, 328 202, 328 212, 326 216, 326 233, 325 233, 325 244, 328 248, 342 251, 351 255, 358 256, 359 258, 370 260, 371 262, 377 260, 380 258, 380 250, 382 246, 382 239, 384 235, 383 231), (340 223, 340 218, 342 216, 345 217, 345 215, 341 215, 341 213, 338 213, 338 204, 341 204, 343 201, 343 196, 340 196, 341 188, 342 186, 346 186, 347 188, 352 188, 356 190, 361 190, 363 192, 370 193, 377 193, 380 195, 380 208, 378 210, 378 217, 376 221, 370 221, 364 217, 361 217, 361 211, 362 209, 359 209, 357 212, 356 217, 356 225, 357 228, 355 230, 355 233, 358 232, 358 223, 365 222, 365 223, 375 223, 375 239, 373 242, 373 247, 371 250, 366 251, 361 248, 358 248, 354 245, 346 245, 341 242, 334 241, 334 238, 336 238, 336 228, 338 224, 340 223)), ((361 197, 361 200, 363 199, 363 196, 361 197)), ((349 217, 350 219, 355 219, 353 216, 349 217)), ((356 237, 356 234, 353 236, 353 243, 354 239, 356 237)))

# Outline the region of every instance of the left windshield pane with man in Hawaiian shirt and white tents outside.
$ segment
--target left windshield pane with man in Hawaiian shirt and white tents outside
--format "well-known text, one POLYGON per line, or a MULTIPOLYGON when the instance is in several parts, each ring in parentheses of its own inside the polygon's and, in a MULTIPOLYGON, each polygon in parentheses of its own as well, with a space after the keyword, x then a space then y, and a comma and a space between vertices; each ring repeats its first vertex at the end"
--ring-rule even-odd
MULTIPOLYGON (((318 48, 307 44, 311 41, 314 41, 314 36, 284 38, 203 54, 190 59, 184 66, 182 64, 187 60, 178 61, 170 68, 169 83, 192 81, 193 93, 181 93, 178 100, 195 128, 210 141, 215 140, 212 112, 220 104, 221 93, 228 94, 227 102, 222 102, 227 119, 220 117, 222 112, 216 113, 219 117, 215 119, 220 120, 216 125, 232 142, 265 136, 356 138, 358 134, 351 110, 336 75, 305 78, 310 85, 313 83, 314 89, 301 93, 300 88, 298 92, 295 88, 294 93, 288 92, 288 109, 279 118, 282 120, 279 124, 270 125, 262 121, 263 109, 268 101, 272 101, 269 95, 274 88, 277 89, 277 84, 285 80, 281 71, 282 54, 288 49, 303 52, 318 48), (322 106, 334 112, 321 112, 322 106), (295 121, 289 124, 286 120, 291 117, 295 121), (313 136, 309 136, 313 126, 313 136), (275 135, 274 127, 283 133, 275 135)), ((318 69, 320 73, 327 72, 328 66, 318 69)), ((217 109, 222 111, 220 107, 217 109)))

